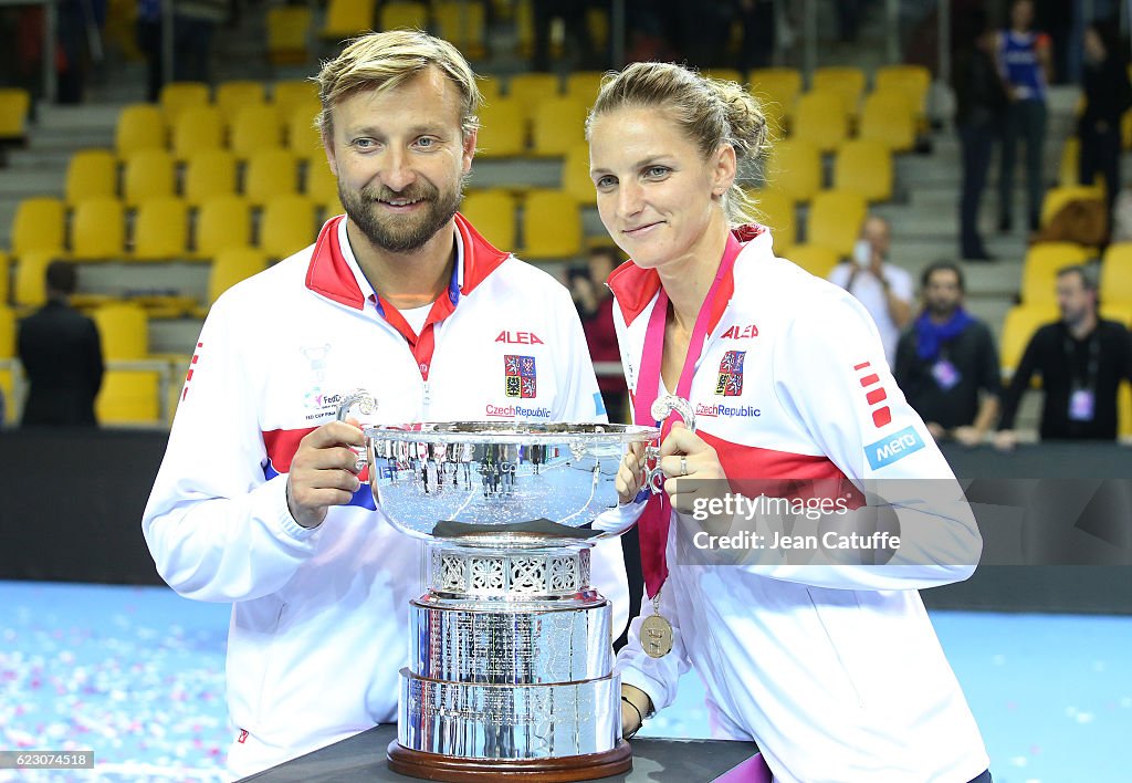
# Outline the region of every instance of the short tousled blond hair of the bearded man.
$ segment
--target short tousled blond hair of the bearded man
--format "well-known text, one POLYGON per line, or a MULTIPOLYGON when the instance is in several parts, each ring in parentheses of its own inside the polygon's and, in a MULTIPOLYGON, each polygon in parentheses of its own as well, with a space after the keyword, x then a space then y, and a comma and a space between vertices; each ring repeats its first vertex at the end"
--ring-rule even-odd
POLYGON ((316 127, 324 138, 329 138, 334 130, 331 111, 343 97, 360 90, 393 90, 428 68, 438 68, 460 92, 460 125, 466 138, 479 127, 475 112, 483 100, 475 74, 458 49, 418 29, 368 33, 324 62, 314 78, 323 103, 316 127))

